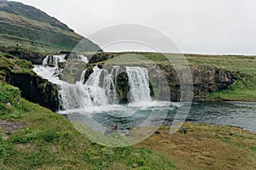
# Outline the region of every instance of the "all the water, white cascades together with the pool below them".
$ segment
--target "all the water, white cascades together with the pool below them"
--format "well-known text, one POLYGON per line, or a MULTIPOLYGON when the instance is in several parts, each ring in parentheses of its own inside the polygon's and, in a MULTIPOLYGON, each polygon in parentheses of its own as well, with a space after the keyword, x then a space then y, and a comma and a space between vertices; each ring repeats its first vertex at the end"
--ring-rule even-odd
MULTIPOLYGON (((84 56, 79 59, 88 62, 84 56)), ((44 59, 43 65, 34 65, 35 71, 59 88, 61 111, 71 122, 84 122, 91 127, 94 123, 108 127, 116 124, 121 131, 128 131, 148 122, 149 125, 170 125, 182 103, 154 101, 150 98, 148 69, 143 67, 125 67, 129 77, 130 103, 119 105, 115 89, 115 75, 119 67, 111 71, 93 68, 93 72, 84 82, 86 69, 79 75, 76 83, 60 80, 63 71, 58 62, 65 62, 65 56, 55 55, 44 59), (48 66, 51 65, 51 66, 48 66), (102 78, 103 77, 103 78, 102 78), (93 122, 91 122, 93 120, 93 122)), ((186 122, 201 122, 212 125, 232 125, 256 133, 256 103, 247 102, 210 102, 194 103, 186 122)), ((185 114, 185 113, 184 113, 185 114)), ((148 124, 147 124, 148 125, 148 124)))

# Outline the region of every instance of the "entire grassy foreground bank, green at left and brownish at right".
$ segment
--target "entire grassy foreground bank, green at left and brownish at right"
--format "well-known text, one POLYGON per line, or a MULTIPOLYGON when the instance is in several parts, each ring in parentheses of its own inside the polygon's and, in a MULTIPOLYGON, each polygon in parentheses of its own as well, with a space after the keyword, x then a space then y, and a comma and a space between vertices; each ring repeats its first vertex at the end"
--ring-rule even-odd
POLYGON ((20 101, 18 88, 0 83, 0 92, 0 169, 256 168, 256 134, 237 127, 186 123, 186 134, 173 135, 161 127, 142 144, 109 148, 85 139, 65 117, 20 101))

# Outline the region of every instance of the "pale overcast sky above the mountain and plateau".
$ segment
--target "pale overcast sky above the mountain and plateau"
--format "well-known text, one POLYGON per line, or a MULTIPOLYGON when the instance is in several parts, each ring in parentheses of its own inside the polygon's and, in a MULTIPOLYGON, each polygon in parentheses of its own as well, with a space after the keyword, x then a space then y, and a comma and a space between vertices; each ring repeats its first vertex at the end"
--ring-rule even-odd
MULTIPOLYGON (((43 10, 84 37, 108 26, 137 24, 162 32, 182 53, 256 54, 255 0, 18 2, 43 10)), ((117 51, 127 50, 125 45, 115 48, 117 51)))

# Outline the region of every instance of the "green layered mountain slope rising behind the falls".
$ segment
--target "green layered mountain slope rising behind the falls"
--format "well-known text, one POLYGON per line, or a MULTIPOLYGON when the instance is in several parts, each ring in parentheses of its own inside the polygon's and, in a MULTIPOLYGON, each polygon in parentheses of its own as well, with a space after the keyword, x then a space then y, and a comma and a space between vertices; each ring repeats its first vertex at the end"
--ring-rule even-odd
MULTIPOLYGON (((0 46, 20 44, 37 51, 69 51, 83 38, 38 8, 0 0, 0 46)), ((84 42, 84 51, 100 50, 90 40, 84 42)))

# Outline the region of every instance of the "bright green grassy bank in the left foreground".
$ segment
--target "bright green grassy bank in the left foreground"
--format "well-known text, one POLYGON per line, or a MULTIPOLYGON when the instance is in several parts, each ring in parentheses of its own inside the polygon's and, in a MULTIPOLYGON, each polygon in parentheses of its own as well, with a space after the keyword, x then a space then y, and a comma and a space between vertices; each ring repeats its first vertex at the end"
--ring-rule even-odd
POLYGON ((0 169, 175 169, 145 148, 108 148, 91 143, 63 116, 22 99, 17 88, 1 83, 0 120, 25 122, 9 133, 0 128, 0 169))

